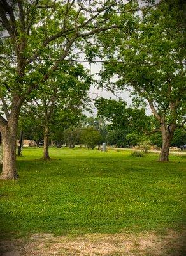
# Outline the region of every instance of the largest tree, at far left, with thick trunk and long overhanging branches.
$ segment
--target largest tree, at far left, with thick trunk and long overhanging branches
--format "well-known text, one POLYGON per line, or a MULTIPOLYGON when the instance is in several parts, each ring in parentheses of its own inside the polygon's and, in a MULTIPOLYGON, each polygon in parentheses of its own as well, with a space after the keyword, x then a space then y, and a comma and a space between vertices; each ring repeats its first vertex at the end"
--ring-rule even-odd
POLYGON ((40 86, 76 56, 82 40, 120 28, 116 13, 131 8, 123 1, 0 1, 1 106, 3 171, 17 179, 15 148, 20 109, 40 86), (56 50, 55 50, 56 49, 56 50))

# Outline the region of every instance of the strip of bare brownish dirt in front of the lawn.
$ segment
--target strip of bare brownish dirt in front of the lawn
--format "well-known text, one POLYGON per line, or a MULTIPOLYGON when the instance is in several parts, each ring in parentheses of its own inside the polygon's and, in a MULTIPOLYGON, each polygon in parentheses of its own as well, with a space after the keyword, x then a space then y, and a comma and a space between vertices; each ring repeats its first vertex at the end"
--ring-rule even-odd
POLYGON ((183 256, 184 234, 89 234, 78 237, 32 234, 24 239, 1 241, 1 256, 183 256))

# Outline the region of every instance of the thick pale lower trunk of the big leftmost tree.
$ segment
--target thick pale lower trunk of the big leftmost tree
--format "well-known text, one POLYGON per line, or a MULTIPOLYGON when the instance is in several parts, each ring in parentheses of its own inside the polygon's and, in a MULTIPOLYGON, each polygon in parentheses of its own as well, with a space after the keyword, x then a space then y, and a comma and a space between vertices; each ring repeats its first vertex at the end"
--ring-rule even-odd
POLYGON ((16 127, 11 132, 8 127, 2 132, 3 135, 3 169, 0 179, 15 180, 18 178, 16 170, 16 127))

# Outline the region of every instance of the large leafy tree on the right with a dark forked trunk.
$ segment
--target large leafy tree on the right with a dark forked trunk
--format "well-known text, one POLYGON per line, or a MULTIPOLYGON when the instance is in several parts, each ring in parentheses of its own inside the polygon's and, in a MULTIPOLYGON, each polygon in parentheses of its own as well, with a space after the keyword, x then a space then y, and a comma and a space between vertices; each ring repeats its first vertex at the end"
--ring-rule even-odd
POLYGON ((136 102, 148 102, 159 123, 153 131, 162 134, 159 161, 169 160, 174 132, 185 123, 184 10, 179 0, 161 1, 156 8, 144 10, 128 38, 115 31, 117 51, 105 49, 106 36, 100 38, 105 55, 113 61, 104 65, 104 81, 117 74, 115 86, 132 88, 136 102))

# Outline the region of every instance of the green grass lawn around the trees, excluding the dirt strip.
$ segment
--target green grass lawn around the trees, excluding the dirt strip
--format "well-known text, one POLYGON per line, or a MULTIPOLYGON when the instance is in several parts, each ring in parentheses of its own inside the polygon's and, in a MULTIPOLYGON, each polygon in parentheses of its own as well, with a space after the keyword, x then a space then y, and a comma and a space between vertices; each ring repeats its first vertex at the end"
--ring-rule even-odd
POLYGON ((157 162, 157 154, 27 148, 20 179, 0 185, 1 236, 34 232, 74 235, 182 229, 185 157, 157 162))

